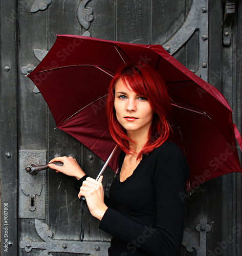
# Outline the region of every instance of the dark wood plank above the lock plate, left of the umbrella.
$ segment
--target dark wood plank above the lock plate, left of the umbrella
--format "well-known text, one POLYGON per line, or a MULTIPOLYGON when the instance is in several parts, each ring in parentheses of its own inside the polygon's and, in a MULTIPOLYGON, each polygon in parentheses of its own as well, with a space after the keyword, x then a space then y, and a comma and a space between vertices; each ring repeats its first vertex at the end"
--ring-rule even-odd
POLYGON ((46 150, 47 148, 47 105, 40 93, 33 93, 34 83, 23 72, 39 64, 33 50, 48 50, 46 35, 48 33, 48 13, 46 11, 31 13, 31 3, 19 5, 18 16, 18 65, 19 65, 19 101, 18 131, 21 150, 46 150), (29 26, 33 24, 33 26, 29 26), (38 29, 36 29, 36 26, 38 29), (28 27, 28 33, 26 28, 28 27), (42 35, 42 36, 40 36, 42 35))

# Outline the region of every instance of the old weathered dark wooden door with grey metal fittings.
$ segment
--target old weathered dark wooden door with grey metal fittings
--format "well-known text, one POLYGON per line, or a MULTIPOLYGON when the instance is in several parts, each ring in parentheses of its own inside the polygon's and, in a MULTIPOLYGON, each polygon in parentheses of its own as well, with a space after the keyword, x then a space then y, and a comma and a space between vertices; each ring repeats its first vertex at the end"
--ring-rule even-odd
MULTIPOLYGON (((1 0, 1 255, 107 255, 110 236, 86 207, 81 214, 75 178, 50 169, 26 172, 29 164, 63 155, 74 156, 92 177, 103 164, 54 130, 45 100, 26 77, 55 35, 163 45, 224 93, 241 131, 241 9, 240 0, 1 0)), ((107 193, 114 173, 107 168, 104 177, 107 193)), ((184 200, 180 255, 241 255, 240 174, 206 182, 184 200)))

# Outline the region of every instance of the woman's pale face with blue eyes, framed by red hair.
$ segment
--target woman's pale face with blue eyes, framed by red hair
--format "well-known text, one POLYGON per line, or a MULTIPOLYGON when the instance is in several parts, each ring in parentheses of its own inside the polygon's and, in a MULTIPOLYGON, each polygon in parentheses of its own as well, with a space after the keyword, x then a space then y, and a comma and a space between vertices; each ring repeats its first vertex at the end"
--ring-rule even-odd
POLYGON ((121 78, 115 84, 114 107, 119 123, 130 133, 148 135, 153 120, 153 110, 148 99, 137 95, 121 78))

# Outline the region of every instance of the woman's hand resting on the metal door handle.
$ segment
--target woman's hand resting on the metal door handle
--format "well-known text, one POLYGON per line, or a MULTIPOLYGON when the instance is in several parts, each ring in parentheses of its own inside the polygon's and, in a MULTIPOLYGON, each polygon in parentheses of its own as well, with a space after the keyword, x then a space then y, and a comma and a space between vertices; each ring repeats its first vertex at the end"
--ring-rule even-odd
POLYGON ((56 170, 56 173, 62 173, 68 176, 76 177, 78 180, 85 176, 82 168, 78 164, 77 160, 73 157, 55 157, 52 159, 48 166, 56 170), (63 166, 53 164, 53 162, 60 161, 63 166))

